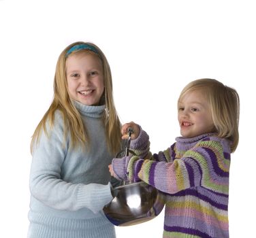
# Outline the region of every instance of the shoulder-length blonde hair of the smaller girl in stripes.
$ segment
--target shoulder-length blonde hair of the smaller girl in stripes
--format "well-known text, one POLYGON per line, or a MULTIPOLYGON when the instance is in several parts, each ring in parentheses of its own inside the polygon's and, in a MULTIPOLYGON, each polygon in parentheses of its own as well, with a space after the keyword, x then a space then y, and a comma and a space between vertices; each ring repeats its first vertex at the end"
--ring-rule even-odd
POLYGON ((231 152, 234 152, 239 141, 240 99, 234 88, 209 78, 194 80, 187 84, 180 93, 178 101, 193 90, 201 90, 208 101, 212 113, 215 132, 218 137, 229 139, 231 152))

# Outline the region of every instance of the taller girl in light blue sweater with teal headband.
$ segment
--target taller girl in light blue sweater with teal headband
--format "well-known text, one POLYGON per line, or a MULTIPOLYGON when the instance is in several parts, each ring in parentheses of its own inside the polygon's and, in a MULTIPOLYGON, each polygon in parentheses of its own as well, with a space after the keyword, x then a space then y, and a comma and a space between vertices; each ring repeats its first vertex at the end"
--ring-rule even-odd
POLYGON ((29 238, 114 238, 102 208, 121 124, 103 52, 71 44, 59 56, 54 99, 31 141, 29 238))

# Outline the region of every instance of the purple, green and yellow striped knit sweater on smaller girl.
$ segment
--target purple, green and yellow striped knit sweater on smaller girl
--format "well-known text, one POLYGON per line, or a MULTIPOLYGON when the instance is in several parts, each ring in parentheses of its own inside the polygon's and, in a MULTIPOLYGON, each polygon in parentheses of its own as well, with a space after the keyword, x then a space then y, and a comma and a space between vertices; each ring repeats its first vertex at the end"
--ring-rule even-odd
POLYGON ((170 148, 151 156, 141 130, 131 141, 140 155, 114 158, 112 167, 115 177, 143 180, 165 194, 164 238, 227 238, 229 143, 214 134, 177 137, 170 148))

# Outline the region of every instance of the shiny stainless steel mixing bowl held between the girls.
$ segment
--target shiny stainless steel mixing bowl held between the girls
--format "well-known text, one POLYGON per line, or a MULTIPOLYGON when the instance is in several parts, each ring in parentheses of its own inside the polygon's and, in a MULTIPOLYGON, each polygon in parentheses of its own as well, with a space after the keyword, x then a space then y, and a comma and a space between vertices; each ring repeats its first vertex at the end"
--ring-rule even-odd
POLYGON ((116 226, 146 222, 157 215, 153 209, 159 192, 145 182, 136 182, 113 189, 114 199, 103 207, 104 214, 116 226))

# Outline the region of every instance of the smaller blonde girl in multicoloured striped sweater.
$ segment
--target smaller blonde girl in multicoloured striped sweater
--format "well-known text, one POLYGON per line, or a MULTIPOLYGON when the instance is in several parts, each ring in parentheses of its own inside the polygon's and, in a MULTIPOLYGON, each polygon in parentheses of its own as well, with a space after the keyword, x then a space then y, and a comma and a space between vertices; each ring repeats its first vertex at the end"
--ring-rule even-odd
POLYGON ((178 99, 181 137, 153 156, 146 132, 133 122, 123 125, 123 139, 133 129, 131 148, 139 156, 114 158, 110 173, 163 192, 164 238, 229 237, 229 165, 238 146, 239 107, 236 90, 217 80, 189 83, 178 99))

